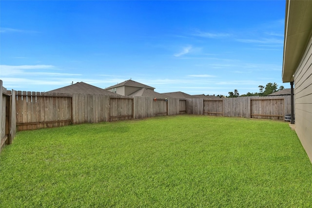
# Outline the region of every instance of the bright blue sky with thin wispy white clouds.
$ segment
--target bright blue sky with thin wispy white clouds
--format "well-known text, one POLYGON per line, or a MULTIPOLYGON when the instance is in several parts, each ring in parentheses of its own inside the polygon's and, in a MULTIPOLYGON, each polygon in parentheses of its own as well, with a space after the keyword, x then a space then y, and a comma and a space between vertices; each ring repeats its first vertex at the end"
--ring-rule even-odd
POLYGON ((229 95, 282 83, 285 0, 0 1, 0 79, 45 92, 128 79, 229 95))

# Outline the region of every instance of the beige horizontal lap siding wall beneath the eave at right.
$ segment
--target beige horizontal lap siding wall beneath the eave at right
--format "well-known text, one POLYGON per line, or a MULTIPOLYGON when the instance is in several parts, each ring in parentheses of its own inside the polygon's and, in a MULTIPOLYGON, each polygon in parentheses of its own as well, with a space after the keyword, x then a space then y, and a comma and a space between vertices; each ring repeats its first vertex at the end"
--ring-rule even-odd
MULTIPOLYGON (((312 38, 312 37, 311 37, 312 38)), ((295 129, 312 161, 312 39, 294 74, 295 129)))

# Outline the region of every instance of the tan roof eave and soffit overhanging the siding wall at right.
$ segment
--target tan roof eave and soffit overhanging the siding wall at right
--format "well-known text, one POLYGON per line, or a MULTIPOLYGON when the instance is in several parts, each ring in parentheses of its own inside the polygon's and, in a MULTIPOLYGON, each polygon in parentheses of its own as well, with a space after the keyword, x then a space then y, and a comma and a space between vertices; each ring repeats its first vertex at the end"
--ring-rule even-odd
POLYGON ((312 1, 286 0, 283 82, 292 82, 312 31, 312 1))

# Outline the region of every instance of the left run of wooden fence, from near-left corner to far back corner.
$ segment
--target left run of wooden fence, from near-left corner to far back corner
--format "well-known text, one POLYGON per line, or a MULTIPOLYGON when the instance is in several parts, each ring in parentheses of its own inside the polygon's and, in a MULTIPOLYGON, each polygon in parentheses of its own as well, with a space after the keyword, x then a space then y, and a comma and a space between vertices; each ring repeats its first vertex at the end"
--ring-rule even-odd
POLYGON ((178 98, 18 91, 16 103, 18 131, 180 113, 178 98))

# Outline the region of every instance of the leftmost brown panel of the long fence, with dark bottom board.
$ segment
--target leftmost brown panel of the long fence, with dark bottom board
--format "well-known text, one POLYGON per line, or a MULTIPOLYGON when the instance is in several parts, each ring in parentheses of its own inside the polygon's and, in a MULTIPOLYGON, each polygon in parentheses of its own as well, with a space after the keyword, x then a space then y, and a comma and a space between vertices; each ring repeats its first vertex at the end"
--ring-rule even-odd
POLYGON ((68 94, 17 92, 18 131, 66 126, 72 123, 71 117, 72 98, 68 94))

